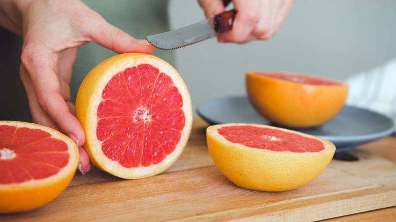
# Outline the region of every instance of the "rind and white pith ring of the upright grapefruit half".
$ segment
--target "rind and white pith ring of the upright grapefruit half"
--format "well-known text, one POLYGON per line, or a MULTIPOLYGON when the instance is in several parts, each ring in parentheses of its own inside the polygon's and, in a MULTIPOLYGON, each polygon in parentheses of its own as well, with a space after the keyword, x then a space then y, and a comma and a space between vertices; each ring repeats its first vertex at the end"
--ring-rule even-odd
POLYGON ((88 153, 90 161, 103 171, 125 179, 153 176, 168 169, 183 152, 192 126, 191 99, 183 79, 168 62, 144 53, 119 54, 95 66, 81 83, 75 110, 76 117, 85 131, 84 149, 88 153), (183 98, 182 109, 185 115, 185 126, 176 149, 160 163, 149 167, 125 168, 103 154, 101 142, 96 137, 96 113, 98 105, 102 101, 102 91, 110 79, 118 72, 139 64, 150 64, 172 78, 183 98))

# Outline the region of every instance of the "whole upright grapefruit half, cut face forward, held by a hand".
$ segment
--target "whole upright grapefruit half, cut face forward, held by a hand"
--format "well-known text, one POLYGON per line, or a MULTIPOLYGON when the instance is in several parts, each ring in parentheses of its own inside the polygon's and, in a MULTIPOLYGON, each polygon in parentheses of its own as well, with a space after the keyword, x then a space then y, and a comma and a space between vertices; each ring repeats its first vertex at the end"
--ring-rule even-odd
POLYGON ((191 131, 192 109, 186 85, 169 63, 125 53, 88 73, 77 94, 76 117, 91 162, 136 179, 158 174, 178 159, 191 131))

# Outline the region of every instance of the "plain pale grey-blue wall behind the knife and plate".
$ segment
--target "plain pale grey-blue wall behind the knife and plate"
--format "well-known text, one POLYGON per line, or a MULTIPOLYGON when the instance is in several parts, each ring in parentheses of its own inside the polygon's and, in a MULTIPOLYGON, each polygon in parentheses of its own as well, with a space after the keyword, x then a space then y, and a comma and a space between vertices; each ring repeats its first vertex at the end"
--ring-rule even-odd
MULTIPOLYGON (((169 7, 172 29, 205 19, 195 0, 171 0, 169 7)), ((297 0, 271 40, 244 45, 206 40, 175 50, 175 68, 195 116, 196 106, 207 99, 245 95, 249 69, 345 80, 396 57, 395 9, 392 0, 297 0)))

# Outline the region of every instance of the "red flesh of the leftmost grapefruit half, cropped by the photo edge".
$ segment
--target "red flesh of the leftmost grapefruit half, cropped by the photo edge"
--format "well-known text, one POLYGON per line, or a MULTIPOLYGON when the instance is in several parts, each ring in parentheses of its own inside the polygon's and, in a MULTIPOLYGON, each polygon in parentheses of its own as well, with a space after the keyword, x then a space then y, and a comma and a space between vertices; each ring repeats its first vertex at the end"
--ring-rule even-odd
POLYGON ((55 175, 70 158, 68 145, 40 129, 0 126, 0 183, 55 175))

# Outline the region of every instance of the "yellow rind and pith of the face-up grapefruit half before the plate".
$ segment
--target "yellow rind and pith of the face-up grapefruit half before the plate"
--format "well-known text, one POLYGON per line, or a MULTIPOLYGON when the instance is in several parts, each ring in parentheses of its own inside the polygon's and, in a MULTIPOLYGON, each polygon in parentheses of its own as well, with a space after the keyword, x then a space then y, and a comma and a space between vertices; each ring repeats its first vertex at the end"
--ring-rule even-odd
POLYGON ((241 188, 258 191, 289 191, 316 178, 332 160, 336 147, 327 140, 273 126, 258 124, 219 124, 207 128, 209 154, 220 171, 241 188), (217 129, 251 125, 279 129, 321 141, 325 147, 316 153, 275 152, 256 149, 226 140, 217 129))

